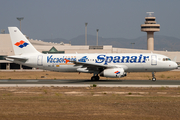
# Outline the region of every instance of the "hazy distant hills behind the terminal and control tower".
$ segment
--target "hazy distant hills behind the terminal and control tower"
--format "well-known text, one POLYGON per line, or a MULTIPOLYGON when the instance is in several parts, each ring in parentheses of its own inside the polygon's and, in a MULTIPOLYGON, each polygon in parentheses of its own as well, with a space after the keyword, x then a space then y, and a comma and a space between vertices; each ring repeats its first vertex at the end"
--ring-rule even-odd
MULTIPOLYGON (((155 50, 168 50, 168 51, 180 51, 180 39, 169 36, 155 35, 154 37, 154 49, 155 50)), ((45 42, 55 42, 55 43, 71 43, 72 45, 84 45, 85 36, 80 35, 73 39, 66 40, 63 38, 56 39, 43 39, 45 42)), ((87 36, 88 45, 96 45, 96 36, 87 36)), ((99 45, 112 45, 118 48, 135 48, 135 49, 147 49, 147 37, 142 36, 136 39, 126 39, 126 38, 98 38, 99 45), (134 45, 131 43, 135 43, 134 45)))

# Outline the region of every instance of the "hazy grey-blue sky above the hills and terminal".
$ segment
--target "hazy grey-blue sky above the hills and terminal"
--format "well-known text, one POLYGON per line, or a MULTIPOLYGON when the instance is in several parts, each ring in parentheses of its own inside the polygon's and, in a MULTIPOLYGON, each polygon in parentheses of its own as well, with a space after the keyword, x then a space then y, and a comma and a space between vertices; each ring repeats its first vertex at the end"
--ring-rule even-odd
POLYGON ((180 39, 180 0, 0 0, 0 30, 20 26, 32 39, 70 40, 87 33, 103 38, 145 36, 140 25, 154 12, 160 32, 180 39))

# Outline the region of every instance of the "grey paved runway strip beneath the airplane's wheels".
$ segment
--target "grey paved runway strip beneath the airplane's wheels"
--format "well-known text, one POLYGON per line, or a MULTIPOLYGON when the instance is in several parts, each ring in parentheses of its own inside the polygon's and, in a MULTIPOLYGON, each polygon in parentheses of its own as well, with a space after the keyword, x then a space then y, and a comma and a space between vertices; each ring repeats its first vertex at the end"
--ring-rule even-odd
POLYGON ((180 80, 0 80, 0 87, 180 87, 180 80))

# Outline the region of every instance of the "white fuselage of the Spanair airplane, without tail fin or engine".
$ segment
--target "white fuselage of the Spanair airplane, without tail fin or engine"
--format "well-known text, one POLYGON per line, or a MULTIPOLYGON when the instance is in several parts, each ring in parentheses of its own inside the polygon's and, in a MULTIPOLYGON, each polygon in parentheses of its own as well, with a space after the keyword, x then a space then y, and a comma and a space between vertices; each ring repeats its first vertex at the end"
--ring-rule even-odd
POLYGON ((82 67, 82 65, 74 65, 71 62, 66 63, 65 59, 91 65, 120 66, 123 67, 126 72, 158 72, 177 68, 177 64, 173 61, 166 60, 166 56, 152 53, 28 54, 24 57, 28 58, 26 62, 19 63, 19 61, 17 61, 17 63, 59 72, 79 72, 77 69, 82 67))

